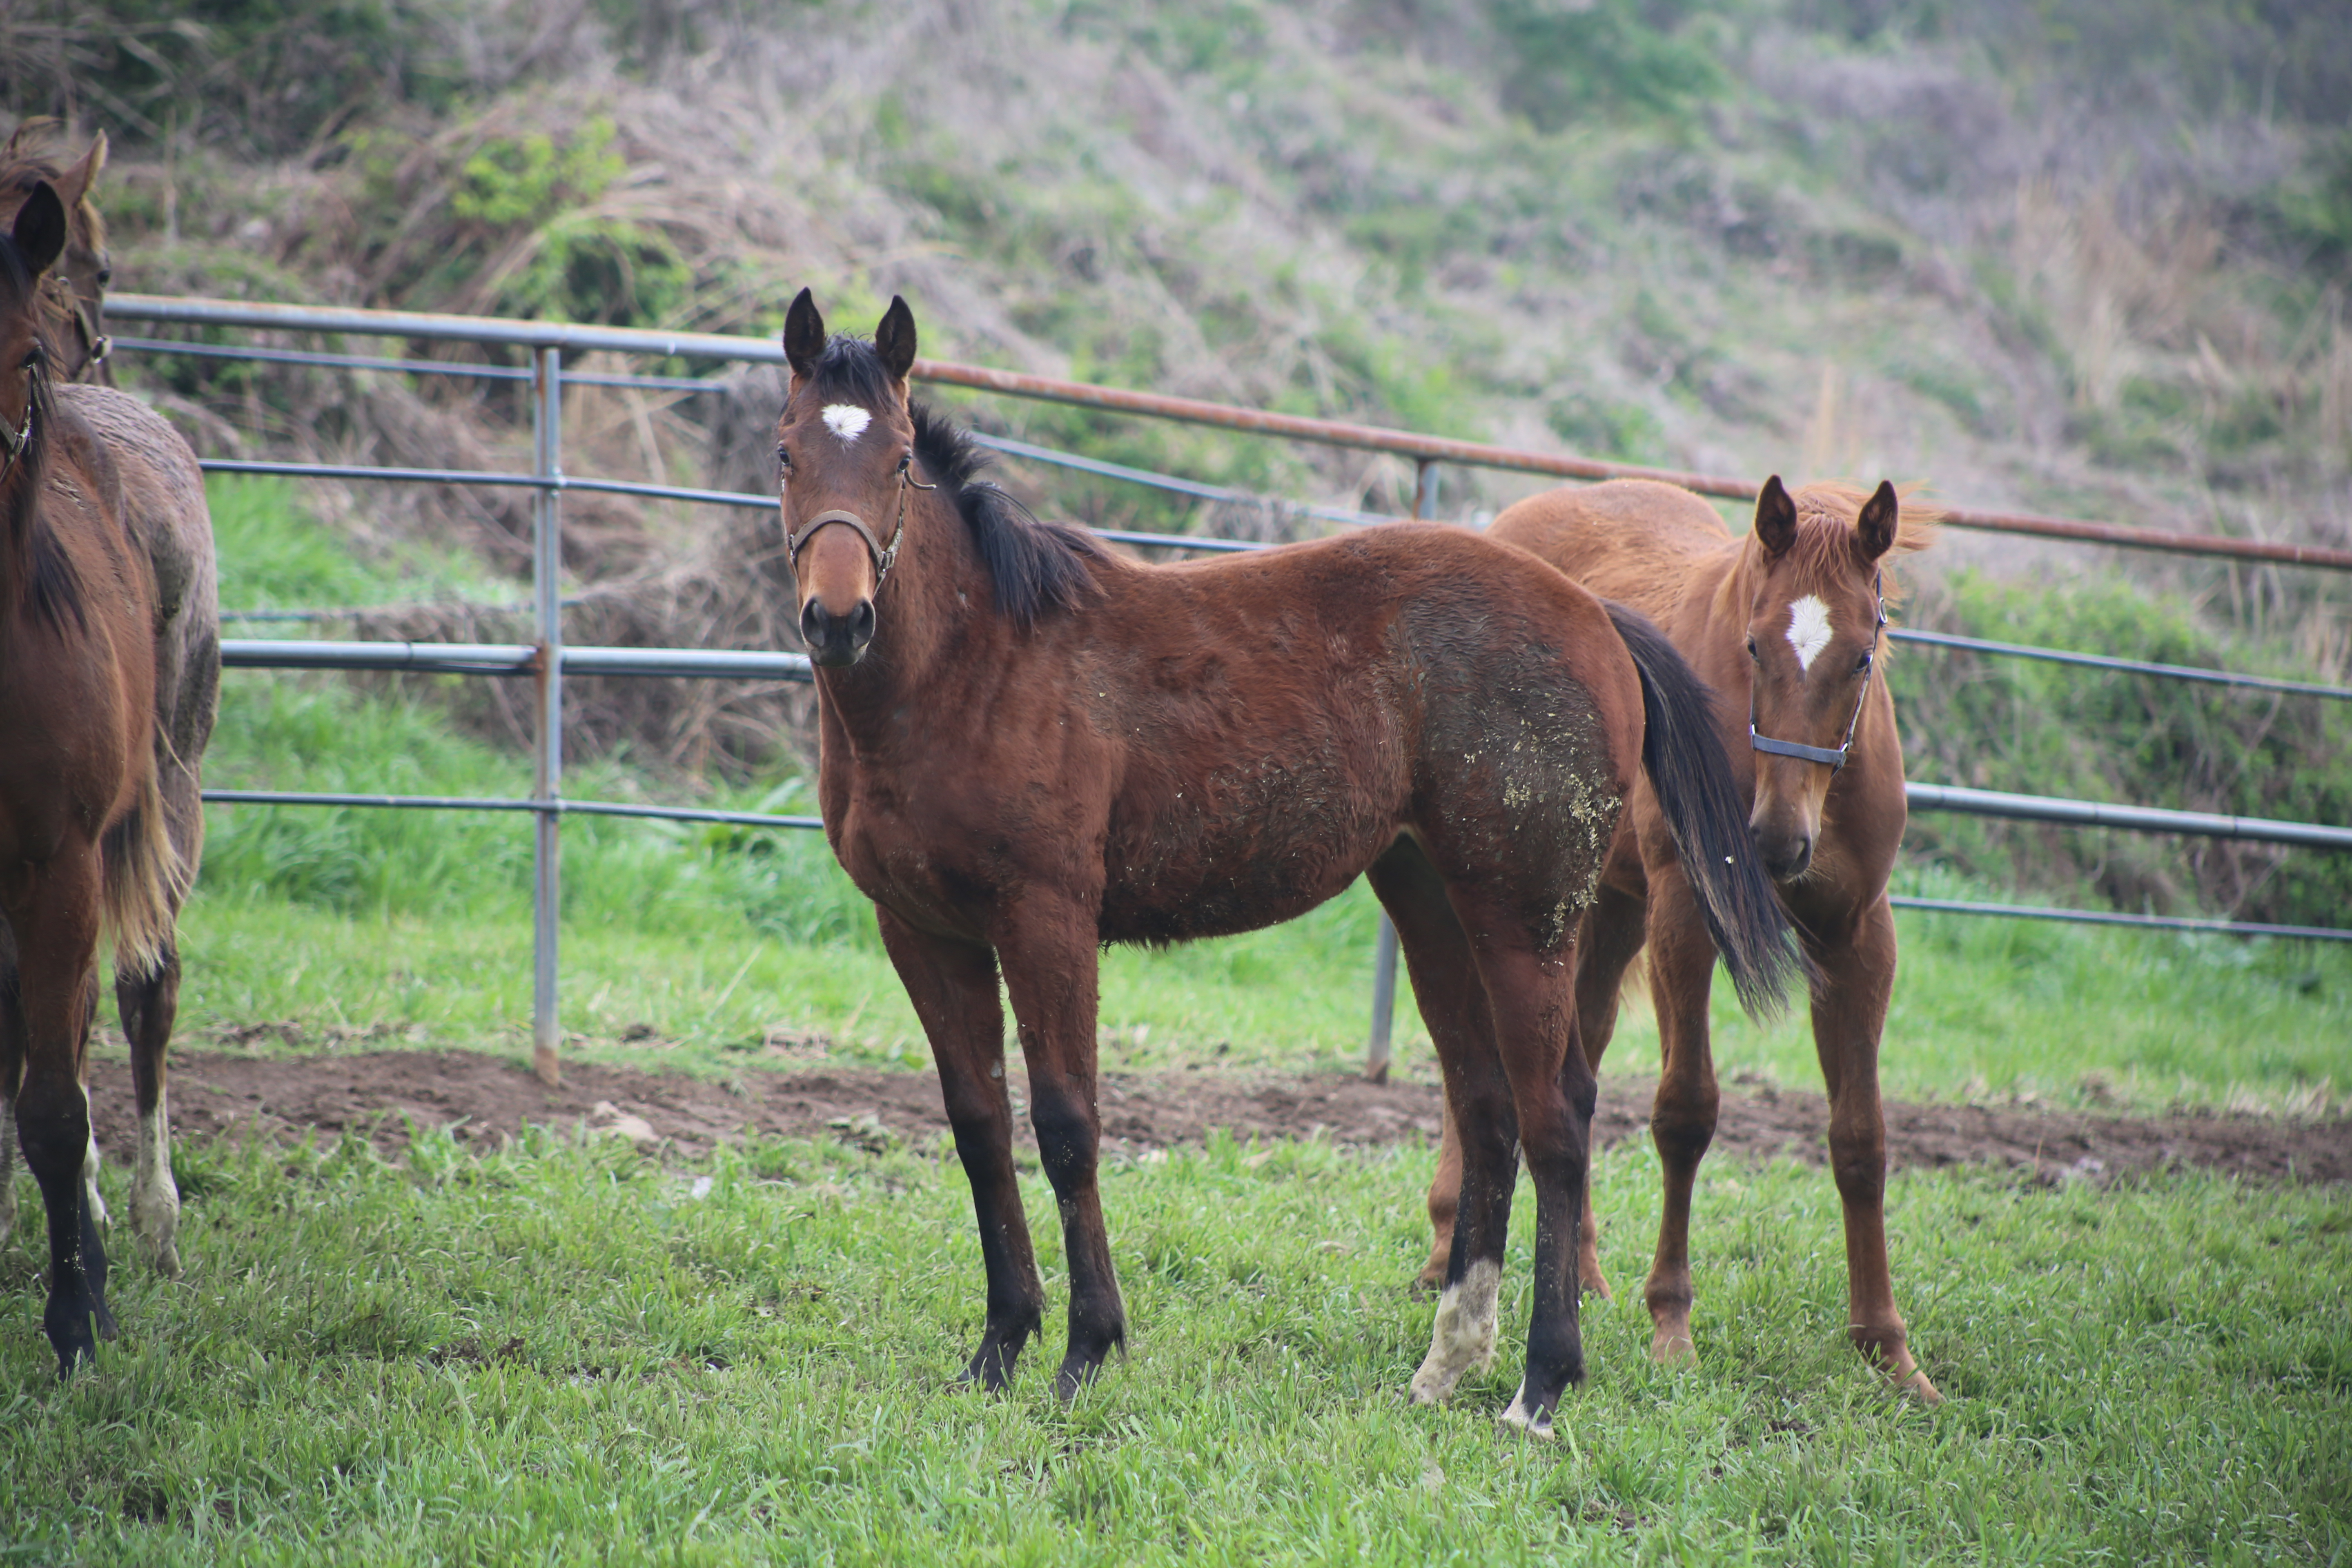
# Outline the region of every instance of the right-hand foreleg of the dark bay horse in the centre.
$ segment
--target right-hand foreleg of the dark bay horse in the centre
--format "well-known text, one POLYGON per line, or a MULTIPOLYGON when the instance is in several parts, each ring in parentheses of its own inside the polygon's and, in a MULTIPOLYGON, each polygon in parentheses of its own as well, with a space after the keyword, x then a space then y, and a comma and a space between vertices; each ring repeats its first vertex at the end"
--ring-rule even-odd
POLYGON ((1096 917, 1075 903, 1033 900, 997 938, 1004 992, 1014 1004, 1021 1056, 1030 1070, 1030 1126, 1037 1159, 1061 1206, 1070 1265, 1070 1349, 1054 1378, 1068 1401, 1112 1349, 1127 1345, 1127 1302, 1110 1267, 1103 1194, 1096 1185, 1103 1124, 1094 1081, 1096 917))

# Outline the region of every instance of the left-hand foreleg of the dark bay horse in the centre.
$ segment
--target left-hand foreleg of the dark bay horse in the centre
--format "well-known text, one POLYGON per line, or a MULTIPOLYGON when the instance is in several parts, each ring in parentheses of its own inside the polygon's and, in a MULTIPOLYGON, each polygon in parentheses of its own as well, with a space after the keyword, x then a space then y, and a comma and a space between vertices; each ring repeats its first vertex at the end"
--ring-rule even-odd
POLYGON ((1030 1248, 1028 1213, 1014 1175, 1014 1110, 1004 1086, 1004 1011, 997 1004, 997 964, 988 947, 915 931, 877 910, 915 1016, 938 1063, 938 1088, 955 1128, 955 1157, 971 1182, 988 1269, 988 1319, 981 1345, 964 1363, 964 1380, 985 1389, 1011 1382, 1021 1347, 1044 1321, 1044 1281, 1030 1248))

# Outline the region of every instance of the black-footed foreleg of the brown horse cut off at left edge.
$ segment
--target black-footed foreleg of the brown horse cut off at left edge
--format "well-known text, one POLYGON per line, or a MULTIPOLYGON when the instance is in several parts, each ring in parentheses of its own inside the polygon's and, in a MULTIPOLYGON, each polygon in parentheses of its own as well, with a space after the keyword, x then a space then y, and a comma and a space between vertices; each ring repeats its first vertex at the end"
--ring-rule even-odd
POLYGON ((59 1375, 66 1375, 78 1361, 96 1356, 92 1326, 103 1338, 115 1333, 106 1307, 106 1246, 85 1190, 89 1093, 82 1088, 82 1048, 99 1001, 96 853, 61 853, 26 882, 31 886, 7 910, 26 1037, 16 1135, 49 1218, 42 1328, 56 1349, 59 1375))

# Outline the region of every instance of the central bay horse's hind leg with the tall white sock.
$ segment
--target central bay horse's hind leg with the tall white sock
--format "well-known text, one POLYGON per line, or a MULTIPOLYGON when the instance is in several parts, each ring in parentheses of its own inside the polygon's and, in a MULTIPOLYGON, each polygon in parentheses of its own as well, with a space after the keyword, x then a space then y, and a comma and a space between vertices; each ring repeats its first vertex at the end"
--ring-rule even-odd
POLYGON ((1486 1371, 1496 1356, 1496 1316, 1503 1286, 1503 1237, 1510 1229, 1510 1190, 1519 1175, 1519 1128, 1494 1051, 1494 1018, 1477 978, 1470 938, 1446 903, 1428 856, 1399 842, 1371 867, 1371 889, 1397 924, 1397 945, 1414 980, 1414 999, 1437 1044, 1446 1079, 1446 1126, 1456 1178, 1439 1173, 1439 1194, 1454 1197, 1430 1354, 1414 1373, 1416 1403, 1437 1403, 1463 1373, 1486 1371))

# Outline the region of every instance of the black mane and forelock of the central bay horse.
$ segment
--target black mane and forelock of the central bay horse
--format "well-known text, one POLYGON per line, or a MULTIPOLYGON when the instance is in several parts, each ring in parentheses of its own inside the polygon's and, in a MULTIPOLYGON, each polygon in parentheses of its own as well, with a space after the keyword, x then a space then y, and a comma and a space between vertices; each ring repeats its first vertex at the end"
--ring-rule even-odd
MULTIPOLYGON (((880 409, 898 395, 898 383, 873 343, 835 334, 816 360, 807 393, 823 402, 880 409)), ((922 477, 955 498, 995 585, 997 614, 1030 625, 1037 616, 1075 609, 1094 590, 1101 548, 1080 529, 1042 522, 1004 487, 983 480, 981 473, 995 458, 929 404, 915 402, 908 414, 915 418, 922 477)))

